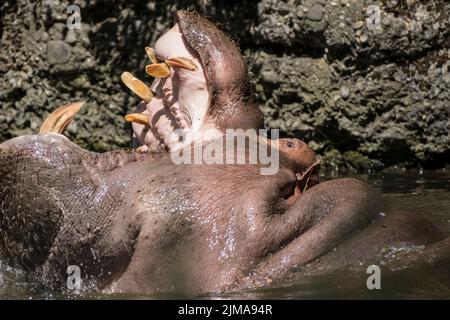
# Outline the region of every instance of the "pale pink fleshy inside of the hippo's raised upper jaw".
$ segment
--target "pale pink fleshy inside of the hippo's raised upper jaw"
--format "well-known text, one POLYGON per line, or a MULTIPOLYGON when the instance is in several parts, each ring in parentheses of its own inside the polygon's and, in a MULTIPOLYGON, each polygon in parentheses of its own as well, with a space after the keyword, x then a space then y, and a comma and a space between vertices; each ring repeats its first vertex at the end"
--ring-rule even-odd
POLYGON ((151 86, 155 96, 149 103, 141 103, 138 112, 149 116, 151 127, 133 123, 134 135, 141 145, 159 151, 176 151, 194 141, 205 129, 209 106, 209 92, 199 55, 189 46, 178 24, 166 32, 155 44, 158 62, 184 57, 193 61, 197 69, 170 68, 171 75, 155 79, 151 86), (185 139, 180 141, 180 130, 185 139))

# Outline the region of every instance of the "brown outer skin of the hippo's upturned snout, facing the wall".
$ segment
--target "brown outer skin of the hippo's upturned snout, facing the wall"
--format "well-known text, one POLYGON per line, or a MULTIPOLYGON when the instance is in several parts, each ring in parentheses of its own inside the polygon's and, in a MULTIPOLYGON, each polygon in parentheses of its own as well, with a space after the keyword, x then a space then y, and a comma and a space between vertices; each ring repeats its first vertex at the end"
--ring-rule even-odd
POLYGON ((183 36, 203 64, 210 93, 208 116, 219 128, 261 128, 247 66, 236 45, 195 12, 176 13, 183 36))

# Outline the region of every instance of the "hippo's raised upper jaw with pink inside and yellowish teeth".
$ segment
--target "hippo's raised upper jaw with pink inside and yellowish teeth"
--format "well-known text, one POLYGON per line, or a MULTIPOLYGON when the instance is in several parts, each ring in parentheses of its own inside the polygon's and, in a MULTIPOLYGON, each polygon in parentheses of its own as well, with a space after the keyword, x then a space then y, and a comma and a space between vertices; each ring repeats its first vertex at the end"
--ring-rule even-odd
POLYGON ((126 116, 140 150, 176 151, 200 136, 209 141, 225 129, 262 126, 239 50, 209 21, 178 11, 175 26, 146 52, 146 72, 155 78, 150 87, 122 74, 144 100, 126 116))

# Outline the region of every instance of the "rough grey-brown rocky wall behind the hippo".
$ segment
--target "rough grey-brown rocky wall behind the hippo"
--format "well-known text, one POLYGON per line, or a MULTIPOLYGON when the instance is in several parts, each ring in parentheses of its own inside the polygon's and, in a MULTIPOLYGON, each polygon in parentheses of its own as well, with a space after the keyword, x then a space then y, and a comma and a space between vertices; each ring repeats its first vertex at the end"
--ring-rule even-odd
POLYGON ((37 132, 86 100, 68 136, 130 146, 123 116, 150 81, 144 47, 198 10, 240 46, 266 125, 307 141, 331 167, 437 168, 450 162, 450 2, 445 0, 42 0, 0 4, 0 141, 37 132), (67 22, 77 5, 81 29, 67 22))

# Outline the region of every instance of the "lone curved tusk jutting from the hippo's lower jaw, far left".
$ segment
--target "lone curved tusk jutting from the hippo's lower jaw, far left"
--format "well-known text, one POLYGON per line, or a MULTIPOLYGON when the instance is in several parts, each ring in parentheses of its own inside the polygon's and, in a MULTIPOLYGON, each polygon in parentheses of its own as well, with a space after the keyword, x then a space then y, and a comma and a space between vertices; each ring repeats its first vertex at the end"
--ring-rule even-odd
POLYGON ((39 133, 63 133, 83 104, 79 101, 59 107, 44 120, 39 133))

